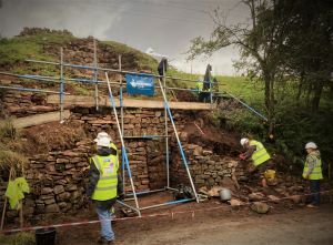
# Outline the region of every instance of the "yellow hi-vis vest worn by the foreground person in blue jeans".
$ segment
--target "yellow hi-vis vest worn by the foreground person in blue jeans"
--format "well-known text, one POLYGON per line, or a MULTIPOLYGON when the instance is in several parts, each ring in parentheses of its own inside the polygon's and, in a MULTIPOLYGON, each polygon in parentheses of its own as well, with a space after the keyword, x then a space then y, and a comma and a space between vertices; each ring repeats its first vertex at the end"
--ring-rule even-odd
POLYGON ((94 155, 91 161, 93 161, 95 167, 100 172, 100 180, 94 187, 91 198, 97 201, 114 198, 117 196, 118 185, 118 156, 94 155))

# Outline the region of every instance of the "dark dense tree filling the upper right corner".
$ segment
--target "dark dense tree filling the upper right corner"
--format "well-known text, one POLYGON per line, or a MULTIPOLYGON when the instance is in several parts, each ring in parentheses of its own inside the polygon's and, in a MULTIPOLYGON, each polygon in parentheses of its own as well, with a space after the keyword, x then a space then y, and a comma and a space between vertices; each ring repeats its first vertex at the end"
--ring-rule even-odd
POLYGON ((299 79, 297 99, 306 94, 319 109, 323 88, 330 85, 333 65, 333 11, 327 0, 280 0, 276 12, 286 22, 284 65, 299 79))

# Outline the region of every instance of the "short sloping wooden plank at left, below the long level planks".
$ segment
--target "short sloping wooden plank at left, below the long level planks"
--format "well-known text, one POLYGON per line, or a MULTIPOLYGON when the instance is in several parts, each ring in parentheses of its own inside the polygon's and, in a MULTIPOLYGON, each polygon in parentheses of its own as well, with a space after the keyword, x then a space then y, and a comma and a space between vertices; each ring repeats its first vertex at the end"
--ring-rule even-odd
MULTIPOLYGON (((63 111, 63 119, 70 118, 70 111, 63 111)), ((57 122, 60 121, 60 112, 48 112, 43 114, 29 115, 24 118, 13 119, 12 124, 17 129, 24 129, 29 126, 36 126, 44 123, 57 122)), ((1 124, 2 122, 0 122, 1 124)))

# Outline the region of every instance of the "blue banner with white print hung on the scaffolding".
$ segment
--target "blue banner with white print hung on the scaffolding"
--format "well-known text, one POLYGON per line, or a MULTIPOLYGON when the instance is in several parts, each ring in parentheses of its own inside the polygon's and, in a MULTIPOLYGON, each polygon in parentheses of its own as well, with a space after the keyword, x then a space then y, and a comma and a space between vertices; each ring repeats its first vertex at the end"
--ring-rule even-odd
POLYGON ((154 95, 154 79, 145 74, 125 74, 129 94, 154 95))

